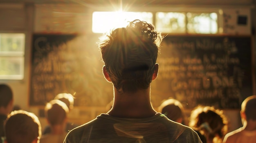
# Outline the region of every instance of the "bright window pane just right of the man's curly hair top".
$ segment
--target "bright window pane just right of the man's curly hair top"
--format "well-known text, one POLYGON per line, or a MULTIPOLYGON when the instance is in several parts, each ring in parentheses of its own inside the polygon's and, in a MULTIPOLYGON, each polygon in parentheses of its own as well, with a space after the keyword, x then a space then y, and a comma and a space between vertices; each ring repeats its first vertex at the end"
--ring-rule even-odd
POLYGON ((156 30, 162 33, 186 33, 186 15, 177 12, 157 12, 156 30))

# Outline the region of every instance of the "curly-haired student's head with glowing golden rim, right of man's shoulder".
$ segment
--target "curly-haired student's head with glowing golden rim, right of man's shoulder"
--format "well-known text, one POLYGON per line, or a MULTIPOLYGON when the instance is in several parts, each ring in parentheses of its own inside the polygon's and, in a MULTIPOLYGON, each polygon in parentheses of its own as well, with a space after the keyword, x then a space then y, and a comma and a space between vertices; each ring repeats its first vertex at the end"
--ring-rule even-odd
POLYGON ((227 133, 227 118, 221 110, 198 106, 191 112, 189 126, 203 130, 209 138, 222 138, 227 133))

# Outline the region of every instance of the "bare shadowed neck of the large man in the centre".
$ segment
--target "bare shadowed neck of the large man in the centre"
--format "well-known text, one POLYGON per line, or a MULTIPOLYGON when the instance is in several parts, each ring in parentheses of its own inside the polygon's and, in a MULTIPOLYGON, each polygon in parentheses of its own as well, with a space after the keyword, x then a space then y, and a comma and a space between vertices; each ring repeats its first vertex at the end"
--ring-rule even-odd
POLYGON ((113 107, 107 114, 120 118, 148 118, 156 113, 150 103, 150 89, 132 94, 120 94, 115 89, 113 107))

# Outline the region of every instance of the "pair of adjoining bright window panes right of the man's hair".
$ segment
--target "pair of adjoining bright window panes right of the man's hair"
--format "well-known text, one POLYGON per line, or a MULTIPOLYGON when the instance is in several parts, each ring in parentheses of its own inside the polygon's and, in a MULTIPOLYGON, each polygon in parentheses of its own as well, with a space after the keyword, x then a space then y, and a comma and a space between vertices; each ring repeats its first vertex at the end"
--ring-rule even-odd
POLYGON ((218 33, 217 13, 157 12, 157 31, 162 33, 218 33))

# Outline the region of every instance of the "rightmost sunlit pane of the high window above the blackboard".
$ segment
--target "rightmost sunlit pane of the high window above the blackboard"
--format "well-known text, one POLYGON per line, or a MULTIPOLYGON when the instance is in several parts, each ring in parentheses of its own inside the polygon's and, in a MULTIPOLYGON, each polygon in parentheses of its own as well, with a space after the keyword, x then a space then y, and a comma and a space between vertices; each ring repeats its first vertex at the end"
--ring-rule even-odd
POLYGON ((187 13, 188 33, 218 33, 218 15, 216 13, 187 13))

